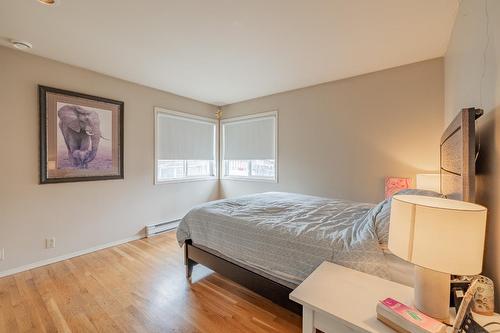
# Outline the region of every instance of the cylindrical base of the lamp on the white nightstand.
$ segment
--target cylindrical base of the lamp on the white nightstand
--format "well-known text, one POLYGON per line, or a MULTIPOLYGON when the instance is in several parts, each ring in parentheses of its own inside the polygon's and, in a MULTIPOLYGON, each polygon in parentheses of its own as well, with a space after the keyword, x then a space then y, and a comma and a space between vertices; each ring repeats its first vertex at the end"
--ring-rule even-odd
POLYGON ((450 316, 450 274, 415 266, 415 307, 446 322, 450 316))

